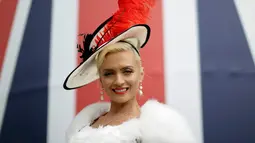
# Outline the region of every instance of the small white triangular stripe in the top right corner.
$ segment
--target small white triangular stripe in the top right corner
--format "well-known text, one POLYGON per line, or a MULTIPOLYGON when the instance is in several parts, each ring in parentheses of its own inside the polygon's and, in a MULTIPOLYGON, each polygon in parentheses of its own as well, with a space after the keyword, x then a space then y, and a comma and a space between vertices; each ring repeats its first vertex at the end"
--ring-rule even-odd
POLYGON ((235 0, 234 2, 255 63, 255 1, 235 0))

